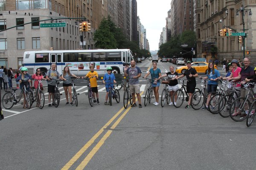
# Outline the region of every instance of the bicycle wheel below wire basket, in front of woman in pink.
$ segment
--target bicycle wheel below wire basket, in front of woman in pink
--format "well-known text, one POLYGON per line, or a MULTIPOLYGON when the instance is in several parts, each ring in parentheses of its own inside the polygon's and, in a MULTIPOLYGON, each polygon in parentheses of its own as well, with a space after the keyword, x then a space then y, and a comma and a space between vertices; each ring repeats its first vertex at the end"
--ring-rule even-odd
POLYGON ((218 113, 222 117, 229 117, 229 110, 232 102, 234 101, 234 97, 231 95, 226 95, 221 98, 220 104, 218 105, 218 113))

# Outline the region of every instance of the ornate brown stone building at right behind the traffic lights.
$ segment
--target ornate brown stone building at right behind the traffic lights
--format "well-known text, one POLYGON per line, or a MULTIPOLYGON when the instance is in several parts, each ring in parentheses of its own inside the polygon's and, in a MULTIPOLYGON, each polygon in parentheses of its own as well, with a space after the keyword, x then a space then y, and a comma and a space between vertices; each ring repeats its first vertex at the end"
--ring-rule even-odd
MULTIPOLYGON (((245 38, 245 50, 251 51, 250 55, 255 62, 256 42, 253 37, 256 35, 256 1, 247 0, 196 0, 196 35, 197 35, 197 57, 212 57, 211 48, 217 47, 215 57, 222 59, 242 59, 243 49, 239 43, 238 36, 220 37, 218 31, 221 28, 233 28, 237 32, 243 32, 243 16, 241 11, 246 9, 244 14, 244 27, 247 37, 245 38), (250 13, 251 9, 251 14, 250 13), (237 11, 238 10, 238 11, 237 11), (220 22, 222 21, 222 22, 220 22)), ((233 30, 234 32, 234 30, 233 30)))

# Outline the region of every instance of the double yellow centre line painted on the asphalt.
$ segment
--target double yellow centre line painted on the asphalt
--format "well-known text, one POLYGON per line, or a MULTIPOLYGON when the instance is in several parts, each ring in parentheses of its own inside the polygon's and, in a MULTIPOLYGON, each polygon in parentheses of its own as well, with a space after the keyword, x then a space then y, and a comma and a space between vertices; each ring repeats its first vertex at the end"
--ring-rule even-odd
MULTIPOLYGON (((144 92, 144 91, 143 91, 144 92)), ((141 92, 140 95, 143 94, 141 92)), ((137 101, 137 99, 136 99, 137 101)), ((84 152, 95 142, 95 140, 102 134, 102 132, 119 116, 120 113, 125 108, 122 107, 74 156, 70 161, 65 164, 64 167, 62 167, 61 170, 68 170, 80 157, 84 152)), ((128 111, 131 109, 131 106, 129 106, 124 113, 122 113, 121 116, 116 120, 116 122, 111 126, 111 129, 115 129, 116 126, 121 122, 121 120, 125 117, 125 115, 128 113, 128 111)), ((88 162, 93 158, 94 154, 97 153, 97 151, 100 149, 100 147, 104 144, 105 140, 108 139, 108 137, 111 135, 113 130, 108 130, 105 135, 99 140, 98 143, 96 143, 96 146, 93 147, 93 149, 88 153, 88 155, 84 158, 83 161, 81 161, 81 164, 76 168, 76 170, 83 170, 84 167, 88 164, 88 162)))

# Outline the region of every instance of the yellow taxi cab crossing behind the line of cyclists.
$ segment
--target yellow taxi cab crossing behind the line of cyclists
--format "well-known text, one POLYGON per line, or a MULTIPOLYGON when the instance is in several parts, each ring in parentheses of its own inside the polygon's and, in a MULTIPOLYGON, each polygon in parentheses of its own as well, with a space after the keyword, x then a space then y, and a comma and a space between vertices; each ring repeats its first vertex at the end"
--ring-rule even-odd
MULTIPOLYGON (((208 62, 192 62, 191 63, 191 67, 195 68, 195 70, 198 73, 204 73, 206 74, 207 70, 208 70, 208 62)), ((218 69, 216 65, 214 65, 215 69, 218 69)), ((187 66, 181 66, 181 67, 177 67, 176 68, 176 72, 178 74, 183 74, 185 72, 185 70, 188 69, 187 66)))

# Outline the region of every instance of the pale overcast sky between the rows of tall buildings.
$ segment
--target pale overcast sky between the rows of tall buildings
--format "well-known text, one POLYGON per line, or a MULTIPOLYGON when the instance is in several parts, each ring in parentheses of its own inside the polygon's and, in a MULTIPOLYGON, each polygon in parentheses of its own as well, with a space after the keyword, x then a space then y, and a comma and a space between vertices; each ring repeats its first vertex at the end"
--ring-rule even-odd
POLYGON ((137 0, 137 15, 146 29, 150 50, 158 50, 160 34, 166 26, 171 0, 137 0))

